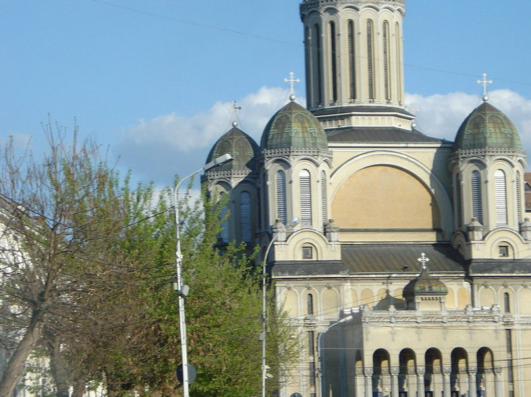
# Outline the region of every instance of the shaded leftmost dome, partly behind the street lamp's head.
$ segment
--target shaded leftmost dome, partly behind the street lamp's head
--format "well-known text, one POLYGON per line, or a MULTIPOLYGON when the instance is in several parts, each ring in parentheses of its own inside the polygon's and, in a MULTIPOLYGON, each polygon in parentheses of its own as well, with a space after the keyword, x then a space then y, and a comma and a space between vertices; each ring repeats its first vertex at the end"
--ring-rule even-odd
POLYGON ((258 152, 259 148, 256 142, 249 135, 234 126, 212 146, 208 154, 207 163, 225 153, 229 153, 233 157, 233 160, 211 168, 209 171, 253 171, 255 168, 254 157, 258 152))

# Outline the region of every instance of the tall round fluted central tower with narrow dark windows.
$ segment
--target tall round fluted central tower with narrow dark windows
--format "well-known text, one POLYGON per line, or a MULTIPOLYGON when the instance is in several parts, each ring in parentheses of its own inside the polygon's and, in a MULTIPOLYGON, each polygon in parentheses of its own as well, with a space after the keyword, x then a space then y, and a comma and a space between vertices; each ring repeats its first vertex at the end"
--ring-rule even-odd
POLYGON ((323 127, 361 126, 353 115, 381 113, 384 126, 410 130, 413 116, 404 111, 404 1, 304 0, 300 12, 307 107, 323 127))

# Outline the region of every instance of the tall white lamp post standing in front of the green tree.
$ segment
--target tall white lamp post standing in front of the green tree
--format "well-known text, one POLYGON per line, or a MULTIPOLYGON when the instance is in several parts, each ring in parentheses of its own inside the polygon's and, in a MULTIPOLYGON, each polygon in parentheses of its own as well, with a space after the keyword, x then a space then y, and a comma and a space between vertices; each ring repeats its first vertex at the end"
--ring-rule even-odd
POLYGON ((177 186, 173 191, 173 206, 175 211, 175 264, 176 269, 175 273, 177 275, 177 282, 173 284, 173 289, 179 294, 179 330, 181 330, 181 355, 183 359, 183 396, 189 397, 189 379, 188 379, 188 350, 186 347, 186 316, 184 310, 184 298, 188 295, 189 288, 188 286, 183 285, 183 255, 181 254, 181 233, 179 232, 179 207, 177 201, 177 194, 179 192, 179 186, 186 180, 193 177, 199 172, 207 171, 213 167, 216 167, 220 164, 226 163, 227 161, 232 160, 233 157, 230 154, 226 153, 223 156, 220 156, 209 163, 205 164, 203 168, 198 169, 197 171, 192 172, 192 174, 184 177, 179 180, 177 186))

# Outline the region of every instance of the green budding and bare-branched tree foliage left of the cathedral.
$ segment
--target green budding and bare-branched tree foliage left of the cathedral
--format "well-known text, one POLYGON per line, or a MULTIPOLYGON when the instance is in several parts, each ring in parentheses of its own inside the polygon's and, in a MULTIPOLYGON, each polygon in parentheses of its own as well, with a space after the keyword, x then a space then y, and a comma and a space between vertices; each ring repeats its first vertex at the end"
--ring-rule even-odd
MULTIPOLYGON (((109 396, 180 395, 172 190, 133 186, 76 129, 72 141, 51 124, 45 132, 43 161, 19 156, 10 142, 0 163, 0 349, 10 352, 0 397, 11 397, 38 352, 57 397, 90 387, 109 396)), ((222 205, 185 192, 178 206, 189 360, 198 369, 191 394, 259 395, 261 275, 241 248, 214 248, 222 205)), ((270 340, 287 340, 271 309, 280 326, 270 340)), ((270 344, 273 370, 288 350, 270 344)))

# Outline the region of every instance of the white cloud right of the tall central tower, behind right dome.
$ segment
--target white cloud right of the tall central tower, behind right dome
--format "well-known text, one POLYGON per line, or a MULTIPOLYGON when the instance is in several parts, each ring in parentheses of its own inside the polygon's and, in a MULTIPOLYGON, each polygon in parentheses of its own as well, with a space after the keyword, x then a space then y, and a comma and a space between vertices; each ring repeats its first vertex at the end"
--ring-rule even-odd
MULTIPOLYGON (((417 128, 426 135, 453 141, 465 118, 482 99, 464 92, 435 94, 423 97, 406 94, 406 103, 419 109, 417 128)), ((489 92, 489 103, 505 113, 515 124, 524 150, 531 154, 531 100, 510 90, 489 92)))

